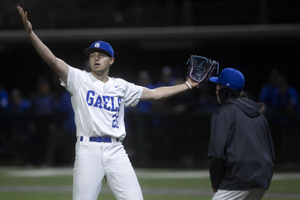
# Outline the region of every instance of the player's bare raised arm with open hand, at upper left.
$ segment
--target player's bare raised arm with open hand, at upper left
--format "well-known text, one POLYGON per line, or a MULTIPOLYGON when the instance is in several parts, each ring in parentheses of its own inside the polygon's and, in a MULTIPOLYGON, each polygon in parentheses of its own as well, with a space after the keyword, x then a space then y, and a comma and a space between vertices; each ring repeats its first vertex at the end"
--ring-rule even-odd
POLYGON ((26 33, 31 40, 35 50, 41 56, 41 58, 51 67, 51 69, 63 80, 67 82, 67 76, 69 72, 68 65, 59 58, 56 58, 52 52, 42 43, 42 41, 35 35, 32 31, 32 25, 27 19, 27 12, 23 11, 23 8, 18 6, 17 7, 19 14, 22 17, 24 27, 26 33))

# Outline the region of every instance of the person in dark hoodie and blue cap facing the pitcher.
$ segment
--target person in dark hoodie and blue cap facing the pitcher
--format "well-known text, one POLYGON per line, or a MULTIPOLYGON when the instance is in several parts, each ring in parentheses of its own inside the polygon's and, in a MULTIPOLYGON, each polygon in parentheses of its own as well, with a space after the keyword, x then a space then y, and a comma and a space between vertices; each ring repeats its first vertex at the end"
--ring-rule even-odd
POLYGON ((224 69, 216 82, 220 106, 211 117, 208 148, 212 200, 261 199, 273 176, 275 153, 262 103, 247 99, 244 76, 224 69))

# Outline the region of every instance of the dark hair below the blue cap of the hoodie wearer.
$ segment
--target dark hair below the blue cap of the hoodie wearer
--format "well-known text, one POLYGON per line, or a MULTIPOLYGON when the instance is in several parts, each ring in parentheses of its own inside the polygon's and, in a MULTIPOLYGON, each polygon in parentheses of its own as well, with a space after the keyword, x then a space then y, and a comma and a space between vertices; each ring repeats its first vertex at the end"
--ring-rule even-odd
POLYGON ((223 103, 226 99, 232 98, 236 99, 238 97, 248 98, 247 94, 243 90, 235 90, 232 88, 228 88, 225 85, 217 83, 220 86, 220 90, 218 92, 220 102, 223 103))

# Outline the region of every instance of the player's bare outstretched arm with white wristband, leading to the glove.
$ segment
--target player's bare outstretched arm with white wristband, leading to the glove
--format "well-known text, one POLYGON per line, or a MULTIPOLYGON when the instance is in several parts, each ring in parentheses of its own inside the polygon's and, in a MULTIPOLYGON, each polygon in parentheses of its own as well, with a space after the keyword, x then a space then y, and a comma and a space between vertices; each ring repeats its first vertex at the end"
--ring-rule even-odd
MULTIPOLYGON (((191 78, 187 79, 187 82, 192 88, 196 88, 198 85, 198 83, 194 82, 191 78)), ((183 83, 181 85, 174 85, 171 87, 155 88, 152 90, 143 87, 143 94, 140 98, 140 101, 162 100, 189 89, 190 88, 186 83, 183 83)))

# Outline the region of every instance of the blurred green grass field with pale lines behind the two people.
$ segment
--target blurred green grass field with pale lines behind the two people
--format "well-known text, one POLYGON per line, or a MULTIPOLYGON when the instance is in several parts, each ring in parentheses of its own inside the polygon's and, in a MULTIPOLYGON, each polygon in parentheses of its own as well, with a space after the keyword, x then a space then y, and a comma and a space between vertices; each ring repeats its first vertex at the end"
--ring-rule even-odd
MULTIPOLYGON (((136 169, 145 200, 207 200, 208 170, 136 169)), ((71 168, 0 167, 0 199, 72 199, 71 168)), ((300 172, 275 172, 264 200, 300 198, 300 172)), ((103 181, 98 199, 116 200, 103 181)))

